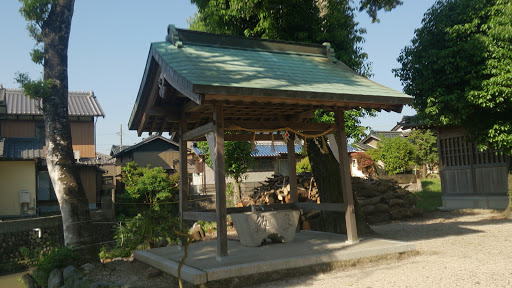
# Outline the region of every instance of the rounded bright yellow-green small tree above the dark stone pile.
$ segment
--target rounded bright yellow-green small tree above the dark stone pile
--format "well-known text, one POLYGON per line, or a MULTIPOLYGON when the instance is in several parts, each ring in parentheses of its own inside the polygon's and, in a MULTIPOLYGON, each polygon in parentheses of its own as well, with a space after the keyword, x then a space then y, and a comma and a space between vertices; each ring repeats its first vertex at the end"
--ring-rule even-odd
POLYGON ((373 160, 381 160, 386 173, 395 175, 403 173, 413 161, 414 147, 403 137, 387 138, 377 144, 372 155, 373 160))

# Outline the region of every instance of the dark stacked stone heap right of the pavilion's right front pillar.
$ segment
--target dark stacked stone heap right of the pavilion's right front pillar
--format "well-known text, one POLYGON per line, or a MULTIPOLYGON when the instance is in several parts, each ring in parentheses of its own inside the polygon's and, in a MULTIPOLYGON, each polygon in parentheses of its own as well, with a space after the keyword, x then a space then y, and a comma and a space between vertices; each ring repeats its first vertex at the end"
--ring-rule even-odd
POLYGON ((352 178, 352 189, 369 224, 407 219, 423 214, 416 197, 394 180, 352 178))

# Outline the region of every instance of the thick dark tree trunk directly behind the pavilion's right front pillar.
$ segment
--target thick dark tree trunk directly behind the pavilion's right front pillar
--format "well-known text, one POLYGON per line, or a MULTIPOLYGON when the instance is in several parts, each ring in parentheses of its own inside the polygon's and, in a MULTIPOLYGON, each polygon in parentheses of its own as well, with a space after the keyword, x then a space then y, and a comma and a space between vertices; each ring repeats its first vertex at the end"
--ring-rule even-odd
MULTIPOLYGON (((329 153, 323 154, 314 140, 307 140, 307 152, 313 176, 318 186, 318 193, 322 203, 343 203, 341 193, 340 167, 331 149, 329 153)), ((352 193, 354 193, 352 191, 352 193)), ((372 232, 364 218, 357 197, 354 194, 354 207, 357 222, 357 231, 360 235, 372 232)), ((347 233, 344 212, 322 211, 320 215, 319 229, 331 233, 347 233)))

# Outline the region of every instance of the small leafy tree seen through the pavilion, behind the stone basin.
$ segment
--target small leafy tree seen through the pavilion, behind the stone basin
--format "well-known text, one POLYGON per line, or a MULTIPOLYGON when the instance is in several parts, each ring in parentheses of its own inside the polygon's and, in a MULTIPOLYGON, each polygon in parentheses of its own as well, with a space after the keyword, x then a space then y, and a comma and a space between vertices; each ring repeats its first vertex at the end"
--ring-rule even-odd
MULTIPOLYGON (((206 155, 206 163, 212 166, 212 157, 208 142, 198 142, 197 147, 206 155)), ((252 144, 242 141, 224 142, 225 172, 235 180, 234 202, 239 203, 242 199, 242 190, 240 184, 247 178, 247 171, 254 164, 254 158, 251 156, 252 144)))

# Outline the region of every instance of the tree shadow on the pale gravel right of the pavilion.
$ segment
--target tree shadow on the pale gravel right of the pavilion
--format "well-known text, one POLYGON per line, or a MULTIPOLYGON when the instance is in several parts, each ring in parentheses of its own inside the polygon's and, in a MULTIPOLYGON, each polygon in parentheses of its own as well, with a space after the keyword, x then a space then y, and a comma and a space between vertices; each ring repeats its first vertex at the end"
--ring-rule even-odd
POLYGON ((502 218, 497 213, 483 215, 482 217, 485 217, 485 219, 475 221, 464 220, 464 216, 478 214, 482 213, 471 211, 426 213, 421 219, 374 225, 372 228, 376 233, 373 237, 399 241, 418 241, 484 233, 478 227, 512 224, 512 220, 502 218))

